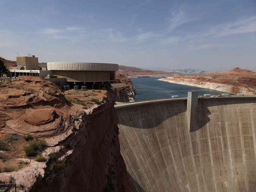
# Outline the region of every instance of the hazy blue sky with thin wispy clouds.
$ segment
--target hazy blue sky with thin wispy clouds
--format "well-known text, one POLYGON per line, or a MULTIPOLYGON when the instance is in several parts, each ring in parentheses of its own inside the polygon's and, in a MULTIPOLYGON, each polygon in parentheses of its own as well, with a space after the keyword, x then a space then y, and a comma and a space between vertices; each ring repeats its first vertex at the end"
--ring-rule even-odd
POLYGON ((256 0, 0 0, 0 57, 256 71, 256 0))

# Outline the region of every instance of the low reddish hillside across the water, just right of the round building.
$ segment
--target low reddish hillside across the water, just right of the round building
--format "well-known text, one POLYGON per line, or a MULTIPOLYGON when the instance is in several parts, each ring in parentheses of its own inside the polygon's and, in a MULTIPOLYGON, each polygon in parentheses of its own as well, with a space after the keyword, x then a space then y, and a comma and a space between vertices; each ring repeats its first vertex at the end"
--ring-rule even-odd
POLYGON ((164 77, 164 76, 170 76, 175 74, 173 72, 146 70, 146 69, 140 69, 137 67, 129 67, 124 65, 119 65, 119 71, 117 73, 125 75, 127 77, 164 77))

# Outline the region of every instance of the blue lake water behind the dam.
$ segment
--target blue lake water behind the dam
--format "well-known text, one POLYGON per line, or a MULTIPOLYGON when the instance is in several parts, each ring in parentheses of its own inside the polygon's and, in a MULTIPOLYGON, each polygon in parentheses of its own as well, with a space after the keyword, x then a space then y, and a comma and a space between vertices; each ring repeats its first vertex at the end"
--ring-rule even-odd
POLYGON ((163 81, 157 81, 160 78, 142 77, 130 78, 136 89, 135 101, 171 98, 171 96, 187 96, 188 91, 197 91, 198 96, 204 94, 221 95, 224 92, 215 91, 183 84, 172 84, 163 81))

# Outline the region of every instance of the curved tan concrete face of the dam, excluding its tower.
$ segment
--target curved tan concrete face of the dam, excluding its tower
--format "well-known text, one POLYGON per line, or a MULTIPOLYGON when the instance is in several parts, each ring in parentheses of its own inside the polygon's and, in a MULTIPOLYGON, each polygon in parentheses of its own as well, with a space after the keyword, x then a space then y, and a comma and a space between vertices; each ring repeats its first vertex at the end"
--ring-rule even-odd
POLYGON ((116 111, 132 192, 256 191, 256 97, 198 99, 195 132, 186 100, 116 111))

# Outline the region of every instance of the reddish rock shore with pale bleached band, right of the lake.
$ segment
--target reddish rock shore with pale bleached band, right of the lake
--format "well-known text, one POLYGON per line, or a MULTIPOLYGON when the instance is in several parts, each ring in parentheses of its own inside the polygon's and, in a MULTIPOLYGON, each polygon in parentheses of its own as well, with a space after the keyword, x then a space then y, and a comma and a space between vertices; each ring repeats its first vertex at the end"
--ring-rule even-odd
POLYGON ((199 75, 174 75, 158 79, 174 84, 184 84, 214 89, 230 94, 256 95, 256 73, 235 68, 230 72, 199 75))

